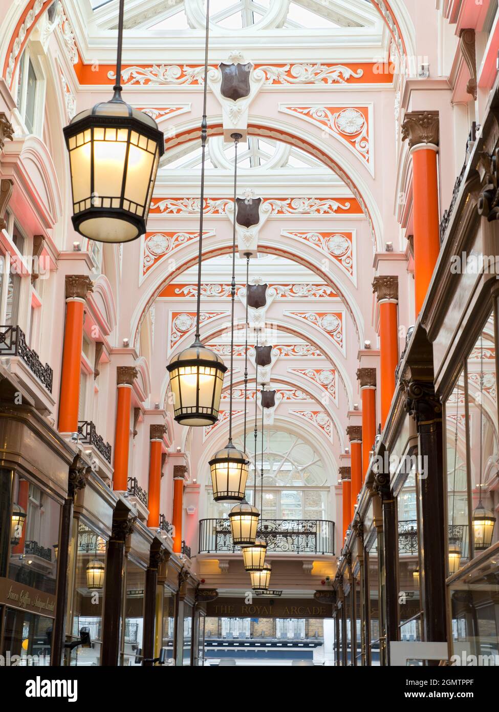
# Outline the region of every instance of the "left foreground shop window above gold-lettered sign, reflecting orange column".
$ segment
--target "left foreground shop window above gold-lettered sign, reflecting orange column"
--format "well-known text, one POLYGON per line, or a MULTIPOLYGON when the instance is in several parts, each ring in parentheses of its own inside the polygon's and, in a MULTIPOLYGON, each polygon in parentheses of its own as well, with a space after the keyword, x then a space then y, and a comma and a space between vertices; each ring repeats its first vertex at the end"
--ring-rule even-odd
MULTIPOLYGON (((1 476, 6 476, 2 473, 1 476)), ((55 594, 61 507, 16 474, 11 511, 9 579, 55 594)))

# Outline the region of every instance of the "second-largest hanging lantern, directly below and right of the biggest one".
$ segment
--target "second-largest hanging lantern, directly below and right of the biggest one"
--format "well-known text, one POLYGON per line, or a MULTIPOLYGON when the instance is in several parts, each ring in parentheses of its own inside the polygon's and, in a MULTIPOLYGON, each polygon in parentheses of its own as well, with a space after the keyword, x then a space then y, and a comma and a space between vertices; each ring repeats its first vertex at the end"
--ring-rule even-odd
POLYGON ((174 418, 182 425, 213 425, 219 418, 227 367, 199 339, 167 365, 174 398, 174 418))

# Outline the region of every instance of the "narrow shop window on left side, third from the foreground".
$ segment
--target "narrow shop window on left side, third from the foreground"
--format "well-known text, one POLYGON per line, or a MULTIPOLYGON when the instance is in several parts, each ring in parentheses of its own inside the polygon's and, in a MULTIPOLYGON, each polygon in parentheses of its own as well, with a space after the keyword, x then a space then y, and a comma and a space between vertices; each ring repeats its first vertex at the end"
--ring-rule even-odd
POLYGON ((125 615, 123 629, 122 665, 141 665, 135 656, 142 649, 144 631, 145 570, 131 559, 127 560, 125 615))

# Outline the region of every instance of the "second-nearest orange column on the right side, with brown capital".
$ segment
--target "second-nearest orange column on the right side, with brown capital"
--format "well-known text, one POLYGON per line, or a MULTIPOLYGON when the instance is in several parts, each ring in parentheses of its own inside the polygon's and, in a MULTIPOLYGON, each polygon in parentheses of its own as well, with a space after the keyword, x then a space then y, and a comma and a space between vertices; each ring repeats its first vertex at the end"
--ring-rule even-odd
POLYGON ((395 391, 395 369, 399 363, 399 328, 396 277, 374 277, 374 291, 379 306, 379 372, 381 376, 381 424, 387 421, 395 391))

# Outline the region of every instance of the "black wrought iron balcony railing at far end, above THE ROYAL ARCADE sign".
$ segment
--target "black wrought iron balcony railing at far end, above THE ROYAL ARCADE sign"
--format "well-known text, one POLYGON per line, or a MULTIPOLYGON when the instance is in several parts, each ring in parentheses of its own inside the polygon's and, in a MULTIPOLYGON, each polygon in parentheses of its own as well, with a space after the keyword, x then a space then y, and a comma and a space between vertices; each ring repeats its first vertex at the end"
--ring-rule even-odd
MULTIPOLYGON (((268 552, 334 554, 335 523, 322 519, 263 519, 258 537, 267 542, 268 552)), ((229 519, 201 519, 199 553, 236 552, 229 519)))

